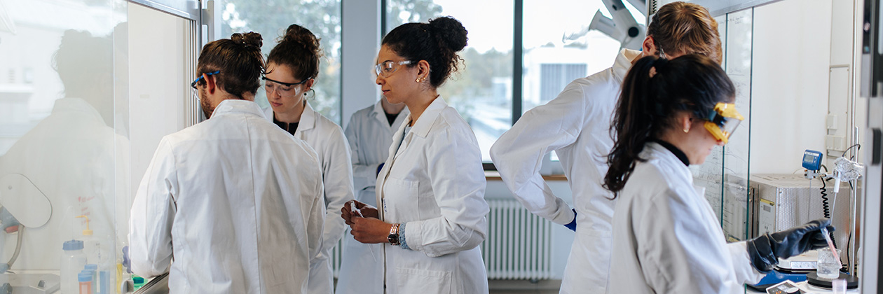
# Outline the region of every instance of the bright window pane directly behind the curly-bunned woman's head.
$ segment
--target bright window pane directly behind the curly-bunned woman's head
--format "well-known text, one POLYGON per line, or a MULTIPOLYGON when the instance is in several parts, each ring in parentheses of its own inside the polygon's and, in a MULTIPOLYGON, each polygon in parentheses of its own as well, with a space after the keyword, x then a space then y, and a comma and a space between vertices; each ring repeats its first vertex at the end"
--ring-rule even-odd
POLYGON ((491 146, 512 125, 513 11, 509 0, 387 2, 387 30, 452 16, 469 31, 469 44, 460 52, 465 66, 439 94, 472 126, 484 162, 491 161, 491 146))

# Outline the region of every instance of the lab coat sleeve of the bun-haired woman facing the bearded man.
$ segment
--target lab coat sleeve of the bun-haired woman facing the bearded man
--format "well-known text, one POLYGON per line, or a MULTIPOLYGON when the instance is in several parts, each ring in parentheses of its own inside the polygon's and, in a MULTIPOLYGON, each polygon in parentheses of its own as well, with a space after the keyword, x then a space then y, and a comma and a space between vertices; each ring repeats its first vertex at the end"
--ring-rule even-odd
POLYGON ((343 237, 346 223, 340 217, 340 209, 346 201, 353 200, 352 162, 350 145, 343 136, 343 131, 336 126, 334 132, 328 134, 328 150, 322 159, 322 182, 325 188, 325 229, 322 233, 322 253, 331 253, 343 237))

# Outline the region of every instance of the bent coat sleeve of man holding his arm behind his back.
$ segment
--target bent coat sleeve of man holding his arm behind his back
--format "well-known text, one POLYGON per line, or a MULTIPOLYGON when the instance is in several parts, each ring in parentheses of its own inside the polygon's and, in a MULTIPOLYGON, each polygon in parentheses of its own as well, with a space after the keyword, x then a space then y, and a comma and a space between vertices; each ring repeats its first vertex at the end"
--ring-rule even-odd
POLYGON ((503 183, 518 202, 532 214, 559 224, 570 223, 575 215, 555 197, 540 167, 547 153, 577 141, 585 122, 584 95, 582 87, 569 85, 555 100, 527 111, 490 150, 503 183))

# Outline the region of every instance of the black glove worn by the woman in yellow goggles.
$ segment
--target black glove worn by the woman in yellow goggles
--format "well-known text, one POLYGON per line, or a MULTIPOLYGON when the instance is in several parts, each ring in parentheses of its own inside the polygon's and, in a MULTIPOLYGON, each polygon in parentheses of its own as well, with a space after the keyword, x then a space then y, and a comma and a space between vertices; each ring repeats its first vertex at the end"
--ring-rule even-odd
POLYGON ((746 243, 751 265, 761 273, 768 273, 779 263, 779 259, 788 259, 813 249, 826 247, 827 241, 821 232, 822 227, 834 231, 831 220, 823 218, 789 230, 766 233, 748 240, 746 243))

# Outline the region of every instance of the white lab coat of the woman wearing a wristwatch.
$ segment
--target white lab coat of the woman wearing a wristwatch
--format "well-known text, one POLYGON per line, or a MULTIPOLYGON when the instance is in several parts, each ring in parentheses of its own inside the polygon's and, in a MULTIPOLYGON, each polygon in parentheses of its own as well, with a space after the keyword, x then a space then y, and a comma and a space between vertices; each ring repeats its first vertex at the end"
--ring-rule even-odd
POLYGON ((475 134, 442 97, 402 140, 409 121, 377 178, 381 219, 404 223, 411 248, 383 244, 387 293, 487 293, 478 247, 487 237, 487 183, 475 134))

